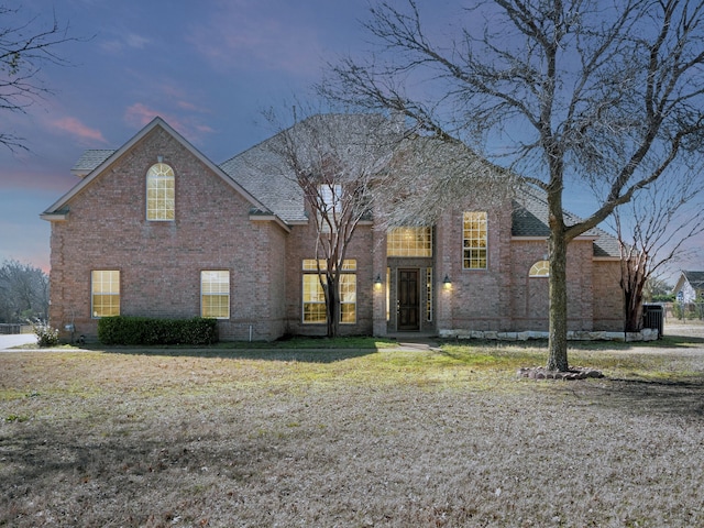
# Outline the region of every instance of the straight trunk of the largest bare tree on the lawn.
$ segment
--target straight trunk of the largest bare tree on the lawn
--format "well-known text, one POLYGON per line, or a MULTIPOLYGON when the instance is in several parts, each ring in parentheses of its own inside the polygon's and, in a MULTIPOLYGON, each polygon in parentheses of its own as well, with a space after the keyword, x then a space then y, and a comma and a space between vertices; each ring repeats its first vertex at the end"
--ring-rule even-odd
POLYGON ((550 327, 548 370, 568 370, 568 243, 558 228, 551 228, 548 240, 550 252, 550 327))

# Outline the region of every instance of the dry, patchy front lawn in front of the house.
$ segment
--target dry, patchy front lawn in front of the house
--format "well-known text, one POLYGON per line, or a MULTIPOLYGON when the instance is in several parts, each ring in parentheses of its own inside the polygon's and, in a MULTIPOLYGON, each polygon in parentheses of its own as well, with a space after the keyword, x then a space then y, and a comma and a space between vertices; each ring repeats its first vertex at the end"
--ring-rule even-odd
POLYGON ((0 526, 704 525, 704 349, 0 355, 0 526))

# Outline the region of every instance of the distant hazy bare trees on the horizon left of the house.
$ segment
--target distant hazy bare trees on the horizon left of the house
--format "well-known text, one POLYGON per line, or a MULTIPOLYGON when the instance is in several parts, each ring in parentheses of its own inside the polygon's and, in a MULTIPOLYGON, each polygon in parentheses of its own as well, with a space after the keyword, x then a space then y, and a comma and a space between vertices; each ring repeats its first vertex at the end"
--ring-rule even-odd
POLYGON ((48 276, 38 267, 6 261, 0 267, 0 322, 24 322, 48 314, 48 276))

